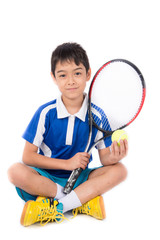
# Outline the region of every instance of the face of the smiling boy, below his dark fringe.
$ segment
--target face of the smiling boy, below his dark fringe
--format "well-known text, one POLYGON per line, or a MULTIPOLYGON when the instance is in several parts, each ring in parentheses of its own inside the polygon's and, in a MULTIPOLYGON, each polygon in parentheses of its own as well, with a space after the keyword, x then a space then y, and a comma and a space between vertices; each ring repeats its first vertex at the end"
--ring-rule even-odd
POLYGON ((86 73, 82 63, 76 65, 74 61, 58 62, 55 69, 55 77, 51 73, 54 82, 57 84, 62 97, 72 100, 82 99, 86 82, 91 77, 91 70, 86 73))

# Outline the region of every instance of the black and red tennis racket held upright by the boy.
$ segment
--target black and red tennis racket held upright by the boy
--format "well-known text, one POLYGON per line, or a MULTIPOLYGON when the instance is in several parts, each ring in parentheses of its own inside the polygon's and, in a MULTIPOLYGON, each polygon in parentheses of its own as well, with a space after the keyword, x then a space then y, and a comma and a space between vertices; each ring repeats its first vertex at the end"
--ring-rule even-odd
MULTIPOLYGON (((140 113, 145 95, 144 78, 133 63, 124 59, 105 63, 96 72, 89 88, 89 137, 85 152, 91 154, 92 149, 101 140, 130 125, 140 113), (90 147, 93 126, 102 134, 90 147)), ((72 190, 81 171, 81 168, 72 171, 64 193, 68 194, 72 190)))

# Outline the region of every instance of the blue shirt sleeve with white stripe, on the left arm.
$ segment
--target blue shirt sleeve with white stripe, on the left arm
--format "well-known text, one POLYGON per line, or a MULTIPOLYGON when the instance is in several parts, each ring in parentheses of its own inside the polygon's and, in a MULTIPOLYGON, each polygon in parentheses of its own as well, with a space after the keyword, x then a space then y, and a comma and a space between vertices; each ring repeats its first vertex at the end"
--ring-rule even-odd
POLYGON ((40 107, 31 119, 22 137, 26 141, 33 143, 37 147, 40 147, 43 142, 43 136, 46 130, 45 121, 45 109, 42 109, 42 107, 40 107))

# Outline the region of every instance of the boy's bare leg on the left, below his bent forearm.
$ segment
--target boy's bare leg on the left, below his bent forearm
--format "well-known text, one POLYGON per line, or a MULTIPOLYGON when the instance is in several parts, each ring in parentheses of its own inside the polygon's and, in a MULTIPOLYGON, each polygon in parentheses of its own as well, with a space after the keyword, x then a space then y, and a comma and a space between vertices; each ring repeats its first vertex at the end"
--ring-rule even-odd
POLYGON ((57 185, 50 179, 39 175, 34 169, 16 163, 8 170, 11 183, 35 196, 55 197, 57 185))

